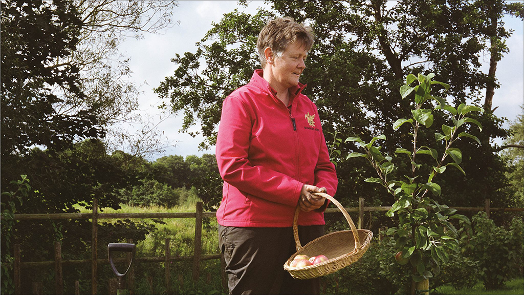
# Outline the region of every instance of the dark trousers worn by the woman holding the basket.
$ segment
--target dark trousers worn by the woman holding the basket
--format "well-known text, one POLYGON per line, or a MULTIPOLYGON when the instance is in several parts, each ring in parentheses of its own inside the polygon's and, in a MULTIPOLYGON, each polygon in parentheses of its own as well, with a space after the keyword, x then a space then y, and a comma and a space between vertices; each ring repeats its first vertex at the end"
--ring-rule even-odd
MULTIPOLYGON (((302 246, 324 235, 323 225, 298 230, 302 246)), ((319 278, 296 280, 283 268, 296 252, 291 227, 219 225, 219 244, 230 294, 320 294, 319 278)))

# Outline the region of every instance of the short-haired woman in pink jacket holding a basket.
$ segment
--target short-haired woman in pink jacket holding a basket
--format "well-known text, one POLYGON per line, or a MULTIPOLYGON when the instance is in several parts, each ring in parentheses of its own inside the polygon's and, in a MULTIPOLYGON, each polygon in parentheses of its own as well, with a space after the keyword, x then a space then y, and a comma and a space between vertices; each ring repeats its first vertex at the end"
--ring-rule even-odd
POLYGON ((296 251, 296 207, 305 245, 324 234, 328 206, 312 193, 334 195, 337 186, 318 111, 299 83, 312 45, 309 27, 271 20, 257 41, 263 69, 223 103, 216 160, 224 187, 216 217, 233 294, 320 293, 319 279, 294 280, 283 269, 296 251))

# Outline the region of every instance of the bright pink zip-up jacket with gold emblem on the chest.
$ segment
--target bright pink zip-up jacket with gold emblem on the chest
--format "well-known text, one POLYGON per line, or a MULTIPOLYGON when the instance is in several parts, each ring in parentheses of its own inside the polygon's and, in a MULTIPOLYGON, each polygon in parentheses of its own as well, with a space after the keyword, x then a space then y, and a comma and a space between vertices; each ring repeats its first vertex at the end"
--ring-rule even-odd
MULTIPOLYGON (((262 75, 256 70, 223 103, 216 140, 224 180, 216 218, 223 226, 290 227, 303 184, 336 192, 335 166, 316 106, 301 94, 305 86, 292 91, 290 112, 262 75)), ((299 225, 323 224, 321 209, 299 215, 299 225)))

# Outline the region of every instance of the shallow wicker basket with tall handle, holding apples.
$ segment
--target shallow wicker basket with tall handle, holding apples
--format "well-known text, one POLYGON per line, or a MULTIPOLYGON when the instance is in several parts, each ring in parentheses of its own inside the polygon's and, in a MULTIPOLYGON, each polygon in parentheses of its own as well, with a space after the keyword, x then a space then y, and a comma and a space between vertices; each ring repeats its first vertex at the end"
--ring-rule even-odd
POLYGON ((350 215, 347 214, 344 207, 342 207, 335 198, 323 193, 314 193, 314 195, 325 197, 335 204, 341 210, 342 214, 344 214, 344 217, 350 224, 351 230, 335 231, 334 233, 316 238, 302 247, 298 237, 298 215, 300 213, 300 207, 297 206, 293 219, 293 236, 297 245, 297 252, 284 264, 284 269, 289 271, 295 279, 305 280, 321 277, 351 265, 364 255, 373 237, 373 233, 370 230, 356 229, 350 215), (293 261, 297 255, 307 255, 310 257, 325 255, 328 257, 328 260, 301 268, 291 267, 291 261, 293 261))

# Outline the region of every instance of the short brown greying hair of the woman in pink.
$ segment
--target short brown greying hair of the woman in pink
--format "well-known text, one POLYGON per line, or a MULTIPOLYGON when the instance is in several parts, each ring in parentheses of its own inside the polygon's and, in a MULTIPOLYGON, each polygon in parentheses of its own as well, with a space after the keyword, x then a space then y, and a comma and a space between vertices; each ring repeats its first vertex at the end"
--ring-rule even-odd
POLYGON ((311 27, 296 23, 291 17, 279 17, 269 20, 260 30, 257 40, 257 50, 262 68, 266 67, 264 50, 269 47, 276 56, 286 51, 295 41, 300 41, 305 48, 311 49, 314 43, 311 27))

